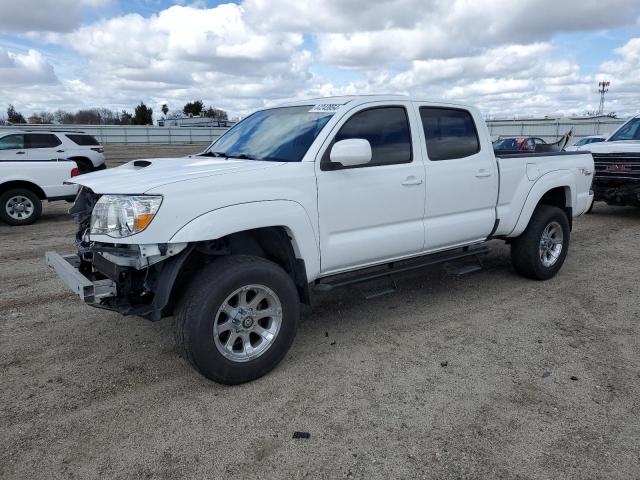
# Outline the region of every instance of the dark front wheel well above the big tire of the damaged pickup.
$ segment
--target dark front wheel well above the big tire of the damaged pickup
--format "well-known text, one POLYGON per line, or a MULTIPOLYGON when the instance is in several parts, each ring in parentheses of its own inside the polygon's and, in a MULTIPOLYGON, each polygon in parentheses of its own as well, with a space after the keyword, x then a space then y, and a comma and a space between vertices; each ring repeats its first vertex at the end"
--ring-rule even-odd
POLYGON ((296 257, 292 238, 284 227, 264 227, 197 242, 175 282, 172 296, 179 298, 189 278, 203 265, 223 255, 253 255, 280 265, 293 280, 300 300, 309 303, 309 285, 304 260, 296 257))

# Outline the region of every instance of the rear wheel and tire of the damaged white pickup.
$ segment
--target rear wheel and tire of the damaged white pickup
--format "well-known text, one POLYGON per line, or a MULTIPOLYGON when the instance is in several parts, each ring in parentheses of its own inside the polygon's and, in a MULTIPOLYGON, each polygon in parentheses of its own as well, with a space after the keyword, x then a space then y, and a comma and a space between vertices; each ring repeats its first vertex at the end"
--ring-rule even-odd
POLYGON ((538 205, 525 231, 511 242, 516 272, 534 280, 553 277, 567 256, 569 239, 569 220, 564 210, 538 205))

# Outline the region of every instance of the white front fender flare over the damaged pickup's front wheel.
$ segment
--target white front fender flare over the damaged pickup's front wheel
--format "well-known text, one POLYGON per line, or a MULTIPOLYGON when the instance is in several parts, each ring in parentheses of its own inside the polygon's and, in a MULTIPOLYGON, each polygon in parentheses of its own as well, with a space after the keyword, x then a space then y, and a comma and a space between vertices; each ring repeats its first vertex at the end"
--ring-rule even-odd
POLYGON ((307 280, 320 272, 320 246, 305 208, 292 200, 239 203, 211 210, 182 226, 169 243, 215 240, 232 233, 264 227, 283 227, 297 258, 305 262, 307 280))

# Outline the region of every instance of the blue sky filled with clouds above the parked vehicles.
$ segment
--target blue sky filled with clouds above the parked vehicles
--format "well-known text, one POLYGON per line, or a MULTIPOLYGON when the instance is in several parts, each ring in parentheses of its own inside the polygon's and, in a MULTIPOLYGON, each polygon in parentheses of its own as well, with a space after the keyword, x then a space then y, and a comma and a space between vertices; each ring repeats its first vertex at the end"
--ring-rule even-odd
POLYGON ((640 0, 0 0, 0 108, 242 115, 408 93, 486 116, 640 111, 640 0))

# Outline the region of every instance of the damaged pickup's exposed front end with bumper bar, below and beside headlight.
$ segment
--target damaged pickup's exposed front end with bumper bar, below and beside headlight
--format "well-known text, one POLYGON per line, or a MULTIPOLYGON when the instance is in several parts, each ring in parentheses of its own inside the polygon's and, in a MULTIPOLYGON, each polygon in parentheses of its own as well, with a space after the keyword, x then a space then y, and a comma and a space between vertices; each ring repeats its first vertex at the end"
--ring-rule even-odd
POLYGON ((92 241, 91 214, 100 195, 83 188, 69 213, 78 222, 77 253, 47 252, 47 263, 87 304, 160 320, 171 312, 176 277, 192 246, 92 241))

